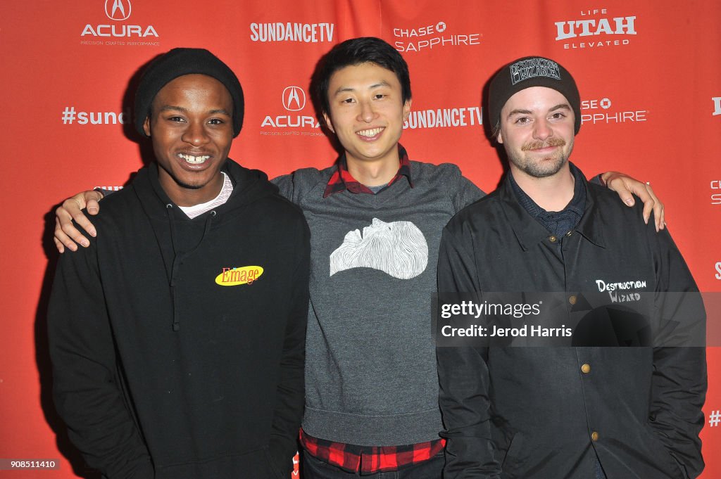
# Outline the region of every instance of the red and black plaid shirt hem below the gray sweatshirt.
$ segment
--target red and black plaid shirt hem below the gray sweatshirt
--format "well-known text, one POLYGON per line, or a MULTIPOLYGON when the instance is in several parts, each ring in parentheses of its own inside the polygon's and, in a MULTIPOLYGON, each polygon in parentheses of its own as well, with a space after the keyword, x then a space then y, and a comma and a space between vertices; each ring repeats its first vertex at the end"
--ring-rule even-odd
POLYGON ((355 446, 318 439, 305 434, 303 429, 300 439, 306 454, 349 473, 364 475, 399 470, 430 460, 446 445, 444 439, 435 439, 407 446, 355 446))

